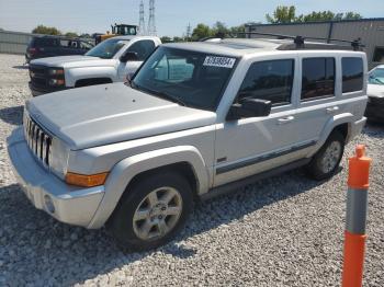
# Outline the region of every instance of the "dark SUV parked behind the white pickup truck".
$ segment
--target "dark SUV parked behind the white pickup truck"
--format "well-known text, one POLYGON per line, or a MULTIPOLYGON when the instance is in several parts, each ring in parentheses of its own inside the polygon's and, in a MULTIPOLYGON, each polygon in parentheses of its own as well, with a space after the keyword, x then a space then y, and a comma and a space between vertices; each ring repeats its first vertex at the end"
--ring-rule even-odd
POLYGON ((93 46, 90 42, 77 38, 35 36, 26 48, 25 60, 30 62, 46 57, 83 55, 93 46))

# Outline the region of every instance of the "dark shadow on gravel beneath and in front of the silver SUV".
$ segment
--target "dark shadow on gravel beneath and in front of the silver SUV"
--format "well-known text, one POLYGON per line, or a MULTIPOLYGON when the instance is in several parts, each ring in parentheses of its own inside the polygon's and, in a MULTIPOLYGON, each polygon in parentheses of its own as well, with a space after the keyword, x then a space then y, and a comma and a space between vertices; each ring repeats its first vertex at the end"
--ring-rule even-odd
POLYGON ((105 229, 86 230, 57 222, 44 211, 36 210, 18 184, 1 187, 0 218, 4 221, 0 226, 0 254, 3 254, 3 266, 9 261, 13 262, 4 274, 5 280, 23 278, 34 284, 33 275, 38 274, 44 285, 49 278, 55 278, 56 284, 74 285, 123 265, 134 264, 154 252, 181 260, 193 257, 196 250, 185 246, 184 240, 240 220, 264 206, 319 185, 303 176, 302 171, 293 171, 262 180, 229 195, 197 203, 187 227, 176 240, 144 253, 122 251, 105 229), (81 267, 74 269, 74 264, 81 267), (71 276, 65 277, 64 269, 70 269, 71 276))

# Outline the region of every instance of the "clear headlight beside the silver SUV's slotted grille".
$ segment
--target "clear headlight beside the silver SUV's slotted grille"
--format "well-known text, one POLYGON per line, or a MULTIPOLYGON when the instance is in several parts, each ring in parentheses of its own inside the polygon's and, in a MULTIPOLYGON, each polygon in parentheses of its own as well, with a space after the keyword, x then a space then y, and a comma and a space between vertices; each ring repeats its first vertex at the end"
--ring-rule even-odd
POLYGON ((53 138, 49 149, 49 165, 60 179, 65 179, 68 168, 69 148, 58 138, 53 138))

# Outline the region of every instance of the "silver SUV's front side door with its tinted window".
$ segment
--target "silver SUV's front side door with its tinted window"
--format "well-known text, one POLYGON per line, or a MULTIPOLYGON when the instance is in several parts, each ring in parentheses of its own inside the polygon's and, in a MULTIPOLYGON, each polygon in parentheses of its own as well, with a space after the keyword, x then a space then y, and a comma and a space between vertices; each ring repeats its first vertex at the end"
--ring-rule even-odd
POLYGON ((242 97, 270 100, 272 111, 267 117, 217 125, 215 186, 295 160, 295 57, 251 64, 235 103, 242 97))

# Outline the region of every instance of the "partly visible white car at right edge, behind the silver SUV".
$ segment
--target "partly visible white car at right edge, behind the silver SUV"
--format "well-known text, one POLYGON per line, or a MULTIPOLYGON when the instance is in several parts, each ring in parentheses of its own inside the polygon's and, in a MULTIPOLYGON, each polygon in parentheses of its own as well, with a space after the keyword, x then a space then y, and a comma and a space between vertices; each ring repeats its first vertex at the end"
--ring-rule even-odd
POLYGON ((384 65, 370 71, 366 94, 368 105, 365 116, 369 119, 384 120, 384 65))

